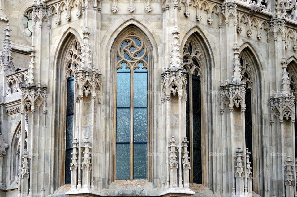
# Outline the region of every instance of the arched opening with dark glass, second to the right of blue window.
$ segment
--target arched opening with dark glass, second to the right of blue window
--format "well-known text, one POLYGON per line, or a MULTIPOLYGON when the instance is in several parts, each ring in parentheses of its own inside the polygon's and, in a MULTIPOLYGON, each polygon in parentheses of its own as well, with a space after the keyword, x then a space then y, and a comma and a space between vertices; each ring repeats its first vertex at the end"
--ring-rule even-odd
POLYGON ((262 117, 261 117, 261 75, 256 56, 247 46, 239 54, 242 80, 246 84, 245 94, 245 146, 250 154, 253 179, 252 190, 260 194, 263 180, 258 176, 263 168, 262 117))

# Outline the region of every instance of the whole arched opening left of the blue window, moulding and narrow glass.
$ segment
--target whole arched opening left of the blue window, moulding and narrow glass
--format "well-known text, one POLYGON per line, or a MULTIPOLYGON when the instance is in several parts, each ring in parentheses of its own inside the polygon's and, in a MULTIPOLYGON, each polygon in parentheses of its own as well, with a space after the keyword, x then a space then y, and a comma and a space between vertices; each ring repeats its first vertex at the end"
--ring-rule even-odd
POLYGON ((57 121, 55 144, 54 174, 56 189, 64 184, 71 183, 71 153, 75 121, 74 105, 74 74, 80 63, 81 47, 79 40, 70 32, 64 37, 57 55, 56 66, 56 113, 57 121))

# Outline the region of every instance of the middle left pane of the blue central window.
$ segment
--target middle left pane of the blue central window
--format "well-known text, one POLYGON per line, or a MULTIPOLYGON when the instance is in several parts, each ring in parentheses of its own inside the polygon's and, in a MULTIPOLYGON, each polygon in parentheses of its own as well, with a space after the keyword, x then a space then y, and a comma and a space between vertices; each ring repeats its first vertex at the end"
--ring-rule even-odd
POLYGON ((117 109, 117 143, 130 142, 130 108, 117 109))

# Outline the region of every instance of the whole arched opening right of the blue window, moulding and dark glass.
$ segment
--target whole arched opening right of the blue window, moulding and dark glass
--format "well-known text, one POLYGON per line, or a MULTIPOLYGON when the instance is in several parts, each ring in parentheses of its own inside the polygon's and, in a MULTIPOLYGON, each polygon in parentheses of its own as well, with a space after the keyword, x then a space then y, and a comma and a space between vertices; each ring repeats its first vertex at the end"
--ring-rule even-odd
POLYGON ((186 102, 186 137, 189 140, 190 152, 190 183, 207 183, 206 133, 208 121, 206 118, 211 108, 205 105, 209 94, 206 94, 210 81, 210 55, 203 38, 198 33, 188 37, 182 46, 183 67, 187 73, 186 102))

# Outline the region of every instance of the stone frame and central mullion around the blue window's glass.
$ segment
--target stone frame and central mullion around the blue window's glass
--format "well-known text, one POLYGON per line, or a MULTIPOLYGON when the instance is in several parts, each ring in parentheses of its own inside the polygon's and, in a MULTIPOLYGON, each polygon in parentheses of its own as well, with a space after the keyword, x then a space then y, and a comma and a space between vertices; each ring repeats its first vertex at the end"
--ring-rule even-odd
MULTIPOLYGON (((150 182, 151 181, 151 163, 153 157, 149 156, 149 153, 151 152, 151 147, 152 147, 152 140, 151 140, 151 129, 153 128, 153 118, 152 118, 152 106, 153 106, 153 95, 149 94, 149 92, 152 92, 152 84, 153 84, 153 52, 152 52, 152 46, 151 43, 149 42, 149 39, 144 35, 144 33, 140 32, 138 29, 136 29, 134 26, 127 28, 126 31, 123 31, 120 33, 121 36, 118 36, 114 40, 114 44, 111 48, 111 53, 110 53, 110 72, 111 76, 114 79, 114 83, 112 86, 112 93, 113 93, 113 109, 112 109, 112 119, 113 119, 113 124, 112 124, 112 181, 113 182, 125 182, 127 180, 130 181, 137 181, 137 182, 150 182), (133 36, 132 36, 133 34, 133 36), (134 119, 134 69, 139 68, 138 66, 129 66, 127 64, 126 68, 130 69, 130 179, 116 179, 116 124, 117 124, 117 71, 118 68, 121 67, 121 63, 124 61, 128 61, 126 59, 120 59, 117 61, 118 58, 118 53, 120 52, 120 47, 123 42, 125 42, 125 39, 127 37, 135 37, 139 39, 144 46, 146 47, 146 54, 147 54, 147 66, 144 64, 142 68, 147 69, 147 179, 133 179, 133 135, 132 135, 132 128, 131 125, 133 125, 133 119, 134 119), (133 110, 131 110, 133 108, 133 110)), ((138 64, 140 60, 133 61, 133 64, 138 64)))

